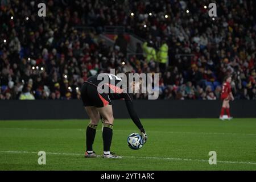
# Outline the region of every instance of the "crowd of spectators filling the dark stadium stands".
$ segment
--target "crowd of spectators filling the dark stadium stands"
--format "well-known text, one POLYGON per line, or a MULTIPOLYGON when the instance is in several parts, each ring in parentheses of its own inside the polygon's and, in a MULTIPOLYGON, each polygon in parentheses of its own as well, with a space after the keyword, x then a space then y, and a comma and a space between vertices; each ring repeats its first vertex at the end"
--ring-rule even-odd
POLYGON ((110 68, 159 73, 160 99, 217 100, 232 75, 235 98, 256 100, 253 0, 216 1, 214 20, 209 1, 49 0, 46 18, 39 2, 1 1, 0 100, 79 99, 84 80, 110 68), (104 26, 124 26, 156 51, 166 42, 168 67, 154 57, 126 60, 122 46, 99 38, 104 26))

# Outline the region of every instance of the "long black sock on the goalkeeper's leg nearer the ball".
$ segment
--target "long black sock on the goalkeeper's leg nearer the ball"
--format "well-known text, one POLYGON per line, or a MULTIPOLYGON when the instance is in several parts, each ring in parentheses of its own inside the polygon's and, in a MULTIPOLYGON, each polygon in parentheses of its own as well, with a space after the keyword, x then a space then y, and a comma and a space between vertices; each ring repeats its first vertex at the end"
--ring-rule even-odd
POLYGON ((112 136, 113 136, 113 125, 104 123, 104 128, 102 131, 104 152, 110 151, 112 136))

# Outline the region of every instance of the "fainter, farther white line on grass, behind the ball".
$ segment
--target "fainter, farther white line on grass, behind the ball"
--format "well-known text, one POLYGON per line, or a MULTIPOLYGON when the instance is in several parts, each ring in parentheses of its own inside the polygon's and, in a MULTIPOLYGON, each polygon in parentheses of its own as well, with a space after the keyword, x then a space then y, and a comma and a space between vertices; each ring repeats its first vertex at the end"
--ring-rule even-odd
MULTIPOLYGON (((0 127, 0 130, 76 130, 85 131, 86 129, 35 129, 35 128, 21 128, 21 127, 0 127)), ((118 132, 134 132, 134 130, 114 130, 118 132)), ((253 133, 207 133, 207 132, 189 132, 189 131, 150 131, 148 133, 180 133, 180 134, 203 134, 203 135, 251 135, 255 136, 253 133)))

